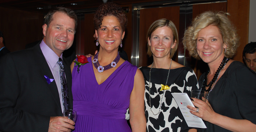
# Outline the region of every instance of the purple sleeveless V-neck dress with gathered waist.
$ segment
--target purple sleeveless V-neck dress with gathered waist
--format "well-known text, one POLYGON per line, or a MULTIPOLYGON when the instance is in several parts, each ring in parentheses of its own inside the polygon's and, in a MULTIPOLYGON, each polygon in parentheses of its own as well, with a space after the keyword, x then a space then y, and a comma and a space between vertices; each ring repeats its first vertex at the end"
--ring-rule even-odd
POLYGON ((125 61, 98 85, 91 57, 72 71, 73 109, 77 120, 73 132, 131 132, 125 120, 137 67, 125 61))

